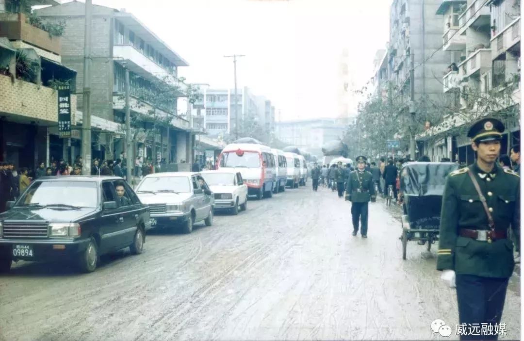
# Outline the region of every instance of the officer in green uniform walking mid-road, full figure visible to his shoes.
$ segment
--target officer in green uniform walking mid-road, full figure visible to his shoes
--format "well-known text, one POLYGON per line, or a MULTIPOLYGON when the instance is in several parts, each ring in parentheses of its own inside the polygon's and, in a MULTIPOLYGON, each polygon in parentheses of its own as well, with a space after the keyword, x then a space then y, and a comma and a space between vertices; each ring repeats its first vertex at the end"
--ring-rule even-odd
POLYGON ((346 182, 346 197, 351 201, 351 215, 353 217, 353 235, 358 232, 358 219, 361 222, 362 238, 367 238, 368 202, 376 197, 373 175, 366 172, 366 158, 356 158, 357 169, 350 173, 346 182))

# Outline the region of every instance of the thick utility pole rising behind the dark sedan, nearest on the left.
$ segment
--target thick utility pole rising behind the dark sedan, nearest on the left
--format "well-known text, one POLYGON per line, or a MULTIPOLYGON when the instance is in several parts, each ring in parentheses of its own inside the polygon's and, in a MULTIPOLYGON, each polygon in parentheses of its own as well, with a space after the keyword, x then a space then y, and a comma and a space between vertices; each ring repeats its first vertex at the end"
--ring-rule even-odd
POLYGON ((92 0, 85 1, 84 75, 82 92, 82 172, 91 175, 91 13, 92 0))

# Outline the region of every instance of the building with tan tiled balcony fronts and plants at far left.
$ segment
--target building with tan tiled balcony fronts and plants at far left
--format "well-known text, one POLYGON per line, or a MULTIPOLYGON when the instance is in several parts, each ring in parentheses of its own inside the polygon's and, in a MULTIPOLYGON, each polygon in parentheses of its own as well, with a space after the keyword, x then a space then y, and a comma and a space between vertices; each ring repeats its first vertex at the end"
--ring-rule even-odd
MULTIPOLYGON (((58 3, 47 0, 34 4, 58 3)), ((49 164, 51 159, 71 161, 77 155, 80 131, 59 137, 57 87, 72 85, 74 125, 77 72, 62 65, 62 37, 31 25, 26 20, 28 14, 20 10, 18 1, 0 1, 0 161, 29 168, 39 162, 49 164)))

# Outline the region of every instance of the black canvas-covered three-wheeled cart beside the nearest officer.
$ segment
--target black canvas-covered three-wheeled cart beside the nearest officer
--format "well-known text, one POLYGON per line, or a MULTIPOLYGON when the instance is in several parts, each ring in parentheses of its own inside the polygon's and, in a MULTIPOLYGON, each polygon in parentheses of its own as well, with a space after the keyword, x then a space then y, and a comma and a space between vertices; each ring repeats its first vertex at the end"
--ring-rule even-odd
POLYGON ((402 215, 402 259, 406 259, 408 241, 431 245, 439 240, 442 195, 447 175, 459 169, 453 162, 408 162, 400 174, 404 196, 402 215))

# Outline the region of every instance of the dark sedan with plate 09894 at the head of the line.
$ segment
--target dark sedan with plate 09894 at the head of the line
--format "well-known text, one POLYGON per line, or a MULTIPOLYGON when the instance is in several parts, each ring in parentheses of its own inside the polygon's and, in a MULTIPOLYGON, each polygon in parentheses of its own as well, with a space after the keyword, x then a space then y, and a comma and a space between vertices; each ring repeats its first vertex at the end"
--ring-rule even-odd
POLYGON ((143 250, 149 207, 116 177, 62 176, 32 183, 0 214, 0 272, 13 260, 71 260, 84 272, 99 258, 143 250))

